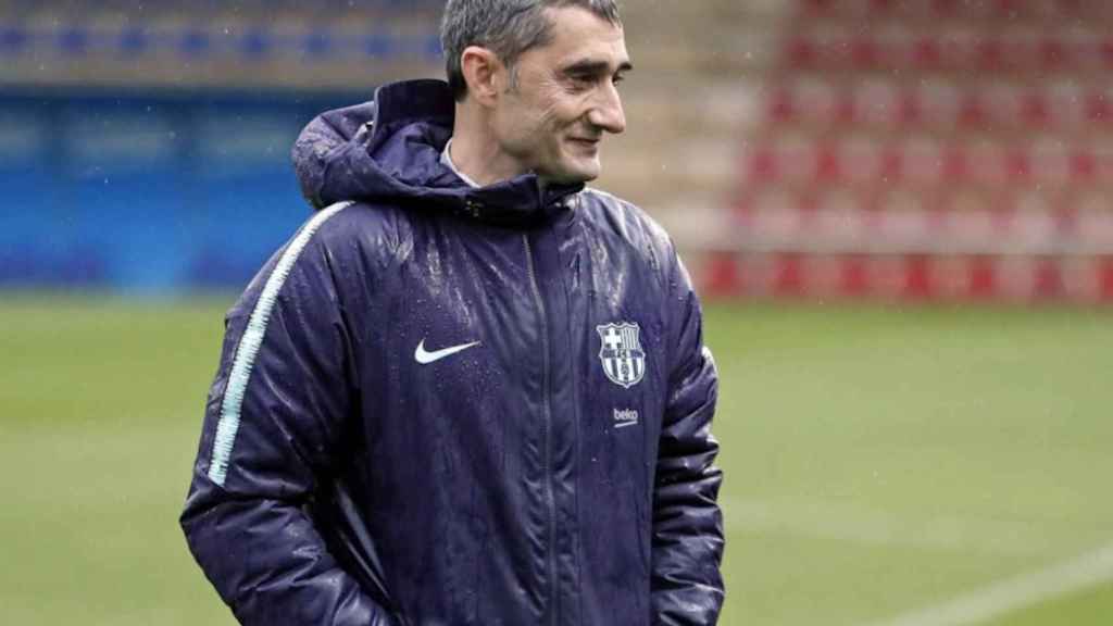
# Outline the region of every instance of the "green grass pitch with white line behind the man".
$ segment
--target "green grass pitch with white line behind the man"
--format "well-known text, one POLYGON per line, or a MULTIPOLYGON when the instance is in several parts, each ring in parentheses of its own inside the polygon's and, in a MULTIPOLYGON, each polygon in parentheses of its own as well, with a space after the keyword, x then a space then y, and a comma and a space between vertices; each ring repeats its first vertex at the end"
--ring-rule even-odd
MULTIPOLYGON (((0 623, 234 623, 177 527, 227 304, 0 295, 0 623)), ((707 324, 721 624, 1113 619, 1113 313, 716 305, 707 324)))

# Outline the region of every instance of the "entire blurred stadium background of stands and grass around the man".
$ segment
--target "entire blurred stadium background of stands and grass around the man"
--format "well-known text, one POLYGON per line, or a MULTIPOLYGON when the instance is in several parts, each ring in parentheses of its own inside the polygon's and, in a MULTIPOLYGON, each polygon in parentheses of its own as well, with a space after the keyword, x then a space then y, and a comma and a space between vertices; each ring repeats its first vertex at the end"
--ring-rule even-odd
MULTIPOLYGON (((0 622, 234 623, 176 521, 223 313, 442 6, 0 0, 0 622)), ((1113 623, 1113 4, 623 10, 597 186, 703 295, 721 623, 1113 623)))

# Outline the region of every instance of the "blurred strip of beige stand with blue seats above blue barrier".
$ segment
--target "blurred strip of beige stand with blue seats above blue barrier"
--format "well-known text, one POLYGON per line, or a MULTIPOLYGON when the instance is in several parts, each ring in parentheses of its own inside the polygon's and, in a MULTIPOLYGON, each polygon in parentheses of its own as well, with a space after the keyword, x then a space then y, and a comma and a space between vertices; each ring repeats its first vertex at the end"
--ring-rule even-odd
POLYGON ((349 89, 441 66, 440 3, 6 2, 0 85, 349 89))

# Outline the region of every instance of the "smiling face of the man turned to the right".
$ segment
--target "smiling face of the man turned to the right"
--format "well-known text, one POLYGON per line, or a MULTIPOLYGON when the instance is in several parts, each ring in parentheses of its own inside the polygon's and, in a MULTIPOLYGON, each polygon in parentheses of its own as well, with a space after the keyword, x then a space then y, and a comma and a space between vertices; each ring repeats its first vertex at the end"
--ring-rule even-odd
POLYGON ((545 180, 582 183, 599 176, 604 133, 622 133, 617 89, 631 69, 622 29, 579 7, 548 9, 552 39, 523 52, 516 82, 499 98, 499 147, 545 180))

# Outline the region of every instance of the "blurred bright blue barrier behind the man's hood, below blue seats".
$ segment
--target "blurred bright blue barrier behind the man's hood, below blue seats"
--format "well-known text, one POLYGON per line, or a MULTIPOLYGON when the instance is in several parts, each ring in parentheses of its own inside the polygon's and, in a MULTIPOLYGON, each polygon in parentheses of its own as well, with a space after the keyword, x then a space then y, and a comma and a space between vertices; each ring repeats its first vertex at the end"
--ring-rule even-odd
POLYGON ((363 99, 0 97, 0 286, 242 288, 309 216, 298 130, 363 99))

